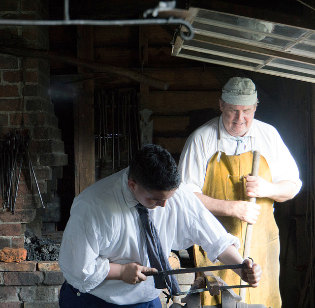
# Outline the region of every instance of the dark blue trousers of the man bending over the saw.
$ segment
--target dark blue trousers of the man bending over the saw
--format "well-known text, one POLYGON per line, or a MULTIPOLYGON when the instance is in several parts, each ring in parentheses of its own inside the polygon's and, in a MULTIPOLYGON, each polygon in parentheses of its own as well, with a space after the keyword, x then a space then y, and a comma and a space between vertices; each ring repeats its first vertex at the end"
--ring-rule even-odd
POLYGON ((153 301, 132 305, 116 305, 107 303, 90 293, 81 293, 66 281, 60 289, 59 306, 61 308, 162 308, 159 298, 153 301), (80 296, 77 295, 80 294, 80 296))

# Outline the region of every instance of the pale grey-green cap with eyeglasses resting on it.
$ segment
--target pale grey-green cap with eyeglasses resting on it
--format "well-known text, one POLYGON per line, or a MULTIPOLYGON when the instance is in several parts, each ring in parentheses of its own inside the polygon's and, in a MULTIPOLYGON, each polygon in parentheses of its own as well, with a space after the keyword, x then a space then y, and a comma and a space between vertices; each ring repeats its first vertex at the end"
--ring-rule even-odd
POLYGON ((223 87, 221 97, 232 105, 249 106, 257 102, 257 91, 251 79, 232 77, 223 87))

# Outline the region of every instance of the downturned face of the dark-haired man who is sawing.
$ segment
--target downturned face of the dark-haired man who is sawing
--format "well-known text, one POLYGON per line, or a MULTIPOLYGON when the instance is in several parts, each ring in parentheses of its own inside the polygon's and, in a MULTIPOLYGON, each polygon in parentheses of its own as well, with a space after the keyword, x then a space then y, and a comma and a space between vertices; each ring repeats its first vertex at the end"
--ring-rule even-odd
POLYGON ((147 209, 155 209, 158 206, 164 208, 166 200, 173 197, 177 189, 175 188, 170 191, 166 190, 148 191, 131 179, 128 180, 128 186, 133 192, 136 199, 147 209))

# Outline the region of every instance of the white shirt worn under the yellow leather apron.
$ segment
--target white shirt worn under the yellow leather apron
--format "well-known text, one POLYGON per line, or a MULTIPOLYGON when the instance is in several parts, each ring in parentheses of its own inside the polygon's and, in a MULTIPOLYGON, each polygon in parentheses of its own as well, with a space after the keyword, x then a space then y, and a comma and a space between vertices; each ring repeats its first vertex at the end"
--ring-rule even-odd
MULTIPOLYGON (((297 185, 297 194, 302 185, 299 170, 276 128, 254 119, 243 137, 245 143, 239 154, 260 151, 269 165, 272 182, 291 181, 297 185)), ((230 139, 222 116, 203 124, 189 136, 182 151, 179 169, 183 182, 191 191, 202 193, 210 158, 217 152, 217 159, 220 159, 220 152, 235 155, 236 147, 237 141, 230 139)))

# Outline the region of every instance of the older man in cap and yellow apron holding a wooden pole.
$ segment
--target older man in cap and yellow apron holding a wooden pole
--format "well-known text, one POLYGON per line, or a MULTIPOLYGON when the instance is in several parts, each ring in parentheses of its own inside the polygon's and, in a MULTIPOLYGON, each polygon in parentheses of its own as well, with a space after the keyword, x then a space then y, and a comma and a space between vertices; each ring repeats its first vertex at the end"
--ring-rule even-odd
MULTIPOLYGON (((183 149, 179 169, 205 207, 237 236, 243 254, 247 223, 253 224, 250 257, 261 265, 259 286, 247 289, 248 304, 281 308, 279 291, 279 230, 273 202, 292 199, 301 188, 299 171, 278 131, 254 119, 257 92, 249 78, 233 77, 222 89, 221 117, 196 129, 183 149), (260 151, 257 177, 252 171, 252 152, 260 151), (256 203, 249 202, 256 197, 256 203)), ((198 267, 211 261, 194 246, 198 267)), ((240 284, 233 271, 215 272, 229 285, 240 284)), ((202 295, 203 305, 220 303, 219 297, 202 295)))

